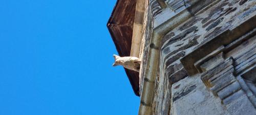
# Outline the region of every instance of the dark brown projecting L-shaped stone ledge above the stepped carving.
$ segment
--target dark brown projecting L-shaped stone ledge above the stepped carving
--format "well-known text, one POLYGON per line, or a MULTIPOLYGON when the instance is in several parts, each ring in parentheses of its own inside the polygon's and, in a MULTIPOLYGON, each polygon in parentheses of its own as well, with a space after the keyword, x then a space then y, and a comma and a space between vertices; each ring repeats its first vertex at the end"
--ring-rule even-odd
POLYGON ((198 49, 194 50, 187 56, 181 59, 183 66, 186 68, 189 75, 193 75, 198 73, 195 66, 193 65, 196 61, 204 56, 208 55, 210 52, 216 50, 221 45, 229 44, 233 40, 238 39, 242 35, 249 32, 251 29, 254 29, 255 25, 250 25, 254 21, 256 21, 256 16, 246 20, 240 26, 232 29, 226 30, 217 37, 208 40, 207 42, 203 43, 198 49), (246 28, 246 29, 245 29, 246 28), (243 29, 243 31, 241 31, 243 29), (188 63, 188 59, 190 62, 188 63))

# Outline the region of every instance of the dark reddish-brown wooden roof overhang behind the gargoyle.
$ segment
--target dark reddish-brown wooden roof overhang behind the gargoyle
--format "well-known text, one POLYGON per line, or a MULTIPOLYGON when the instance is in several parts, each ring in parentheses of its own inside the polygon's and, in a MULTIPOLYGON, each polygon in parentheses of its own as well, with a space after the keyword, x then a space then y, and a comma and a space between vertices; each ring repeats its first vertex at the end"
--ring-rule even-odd
MULTIPOLYGON (((117 0, 107 27, 118 54, 130 56, 135 20, 136 0, 117 0)), ((139 73, 124 68, 136 96, 139 96, 139 73)))

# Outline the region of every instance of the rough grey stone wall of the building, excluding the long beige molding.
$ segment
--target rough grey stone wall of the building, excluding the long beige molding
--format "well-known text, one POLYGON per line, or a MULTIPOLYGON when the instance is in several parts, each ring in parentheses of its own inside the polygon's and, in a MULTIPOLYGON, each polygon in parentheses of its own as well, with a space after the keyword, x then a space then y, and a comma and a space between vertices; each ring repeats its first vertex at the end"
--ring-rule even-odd
POLYGON ((152 30, 184 9, 191 17, 161 38, 152 114, 255 114, 256 1, 165 2, 148 8, 141 87, 152 30))

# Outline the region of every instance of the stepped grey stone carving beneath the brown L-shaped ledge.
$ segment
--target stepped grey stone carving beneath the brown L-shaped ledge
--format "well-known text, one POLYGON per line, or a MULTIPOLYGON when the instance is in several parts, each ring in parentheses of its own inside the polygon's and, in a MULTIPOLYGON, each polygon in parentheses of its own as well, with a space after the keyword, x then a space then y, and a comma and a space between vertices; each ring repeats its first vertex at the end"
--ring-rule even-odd
POLYGON ((233 94, 242 88, 233 73, 233 59, 230 58, 202 74, 202 80, 215 96, 218 96, 222 101, 227 98, 224 104, 234 101, 231 99, 238 99, 236 98, 238 96, 233 94), (230 96, 232 97, 229 98, 230 96))

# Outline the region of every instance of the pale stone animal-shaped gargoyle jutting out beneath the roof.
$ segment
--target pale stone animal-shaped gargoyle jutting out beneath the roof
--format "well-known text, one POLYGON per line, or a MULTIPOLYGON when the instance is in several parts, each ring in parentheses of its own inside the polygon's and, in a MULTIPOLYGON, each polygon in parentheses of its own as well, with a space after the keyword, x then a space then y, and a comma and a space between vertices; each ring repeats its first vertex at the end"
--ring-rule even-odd
POLYGON ((124 68, 129 70, 133 70, 136 72, 140 71, 140 62, 141 59, 137 57, 120 57, 117 55, 113 55, 115 58, 115 63, 113 66, 122 65, 124 68))

